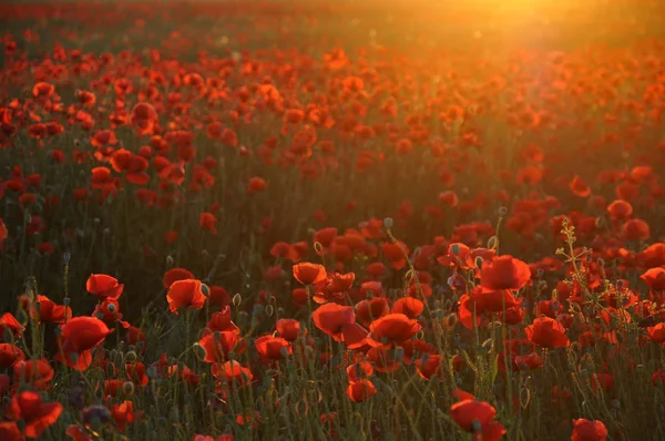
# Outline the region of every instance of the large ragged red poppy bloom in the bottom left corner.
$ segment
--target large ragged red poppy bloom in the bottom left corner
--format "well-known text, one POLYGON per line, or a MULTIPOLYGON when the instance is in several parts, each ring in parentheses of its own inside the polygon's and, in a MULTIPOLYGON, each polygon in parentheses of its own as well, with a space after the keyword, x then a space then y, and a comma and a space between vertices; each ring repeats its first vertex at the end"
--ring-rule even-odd
POLYGON ((14 420, 23 421, 23 434, 27 438, 39 438, 62 413, 62 404, 44 403, 32 391, 17 393, 11 400, 10 409, 14 420))

